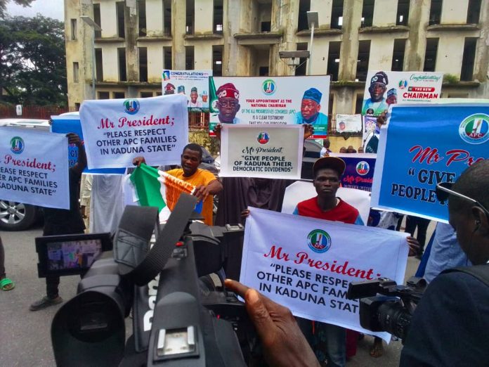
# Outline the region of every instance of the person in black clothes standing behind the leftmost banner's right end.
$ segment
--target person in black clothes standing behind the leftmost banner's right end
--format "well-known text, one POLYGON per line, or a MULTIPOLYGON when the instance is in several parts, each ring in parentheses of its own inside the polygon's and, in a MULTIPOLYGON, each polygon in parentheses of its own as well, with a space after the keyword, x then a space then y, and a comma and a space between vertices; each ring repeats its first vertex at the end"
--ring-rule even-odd
MULTIPOLYGON (((67 134, 68 143, 78 147, 77 163, 70 167, 70 209, 44 208, 44 229, 43 236, 55 236, 74 233, 84 233, 85 225, 81 218, 79 207, 79 183, 81 172, 86 167, 86 154, 83 143, 77 134, 67 134)), ((30 305, 31 311, 38 311, 54 304, 63 302, 63 299, 58 294, 58 285, 60 284, 59 276, 46 277, 46 295, 40 300, 30 305)))

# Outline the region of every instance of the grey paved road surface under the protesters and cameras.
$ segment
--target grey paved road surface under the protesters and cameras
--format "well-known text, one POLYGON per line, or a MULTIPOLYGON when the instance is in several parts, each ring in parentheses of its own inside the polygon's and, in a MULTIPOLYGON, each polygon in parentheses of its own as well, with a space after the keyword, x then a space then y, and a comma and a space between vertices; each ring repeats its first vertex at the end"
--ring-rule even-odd
MULTIPOLYGON (((0 366, 54 366, 51 349, 51 320, 60 307, 50 307, 32 312, 29 305, 45 295, 44 279, 37 278, 37 254, 34 238, 41 236, 41 228, 22 232, 0 231, 6 250, 7 276, 15 281, 15 289, 0 291, 0 366)), ((417 269, 419 262, 409 259, 407 277, 417 269)), ((78 276, 61 278, 60 295, 69 300, 75 295, 78 276)), ((127 325, 128 323, 126 323, 127 325)), ((368 348, 371 337, 365 337, 358 346, 358 354, 348 361, 348 366, 398 366, 402 345, 391 342, 384 356, 372 359, 368 348)))

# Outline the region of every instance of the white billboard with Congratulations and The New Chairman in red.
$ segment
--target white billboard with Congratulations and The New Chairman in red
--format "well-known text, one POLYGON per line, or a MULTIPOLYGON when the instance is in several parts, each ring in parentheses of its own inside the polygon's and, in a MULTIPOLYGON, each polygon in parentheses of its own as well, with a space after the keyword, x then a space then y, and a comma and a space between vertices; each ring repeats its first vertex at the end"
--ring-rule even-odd
POLYGON ((372 71, 367 74, 362 115, 379 116, 397 103, 423 103, 441 96, 443 72, 372 71))

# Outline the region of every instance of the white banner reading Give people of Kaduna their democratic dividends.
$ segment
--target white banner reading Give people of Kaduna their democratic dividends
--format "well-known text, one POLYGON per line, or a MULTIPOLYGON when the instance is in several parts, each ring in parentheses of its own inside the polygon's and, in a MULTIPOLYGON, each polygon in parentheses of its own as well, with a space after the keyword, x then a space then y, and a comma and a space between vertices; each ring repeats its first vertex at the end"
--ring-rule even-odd
POLYGON ((223 125, 223 177, 300 179, 304 128, 301 125, 223 125))

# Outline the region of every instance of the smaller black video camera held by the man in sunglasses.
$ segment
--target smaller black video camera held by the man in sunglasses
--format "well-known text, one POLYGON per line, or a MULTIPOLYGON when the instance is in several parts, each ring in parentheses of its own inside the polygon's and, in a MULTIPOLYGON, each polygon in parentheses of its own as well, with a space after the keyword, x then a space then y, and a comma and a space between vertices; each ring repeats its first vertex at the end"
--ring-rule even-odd
POLYGON ((389 278, 351 282, 346 298, 360 299, 360 325, 372 331, 386 331, 404 340, 411 317, 426 288, 423 278, 412 276, 407 285, 389 278), (380 295, 377 295, 380 294, 380 295))

